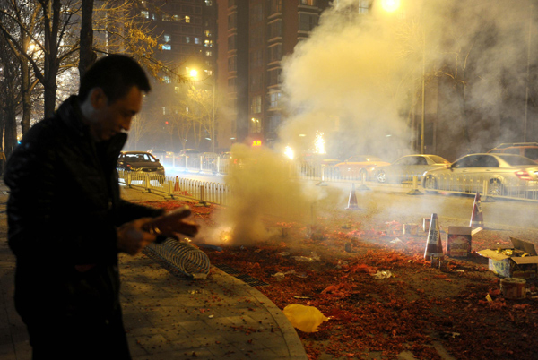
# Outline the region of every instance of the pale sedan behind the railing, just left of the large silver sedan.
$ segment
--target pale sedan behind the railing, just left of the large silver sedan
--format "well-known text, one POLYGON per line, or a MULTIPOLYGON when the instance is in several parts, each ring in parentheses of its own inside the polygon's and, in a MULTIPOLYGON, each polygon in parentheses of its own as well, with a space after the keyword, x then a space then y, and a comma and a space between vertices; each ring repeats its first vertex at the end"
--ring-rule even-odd
POLYGON ((413 154, 405 155, 390 165, 377 167, 373 170, 379 183, 402 183, 412 181, 412 176, 418 176, 434 168, 447 168, 450 161, 438 155, 413 154))

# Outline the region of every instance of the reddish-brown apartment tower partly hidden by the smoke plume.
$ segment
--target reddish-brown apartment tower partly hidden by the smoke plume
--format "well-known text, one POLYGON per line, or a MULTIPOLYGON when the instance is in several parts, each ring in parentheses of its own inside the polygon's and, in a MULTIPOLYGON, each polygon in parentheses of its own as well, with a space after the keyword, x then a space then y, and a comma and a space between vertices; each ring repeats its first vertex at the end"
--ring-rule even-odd
POLYGON ((329 0, 217 0, 221 148, 271 146, 282 122, 282 56, 308 38, 329 0))

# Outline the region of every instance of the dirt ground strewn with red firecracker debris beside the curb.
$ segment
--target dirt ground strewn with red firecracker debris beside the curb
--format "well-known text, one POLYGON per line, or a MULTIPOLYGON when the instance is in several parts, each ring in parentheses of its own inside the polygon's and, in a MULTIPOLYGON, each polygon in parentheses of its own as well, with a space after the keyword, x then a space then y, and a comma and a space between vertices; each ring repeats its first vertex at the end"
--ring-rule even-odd
MULTIPOLYGON (((148 204, 174 209, 184 203, 148 204)), ((206 227, 214 225, 215 208, 192 206, 206 227)), ((526 280, 525 299, 505 299, 488 260, 476 254, 525 234, 484 229, 473 235, 468 258, 445 256, 440 268, 432 268, 423 259, 427 233, 403 233, 409 219, 347 214, 318 218, 316 227, 268 222, 284 230, 256 245, 222 242, 220 249, 203 250, 212 264, 265 282, 256 288, 279 308, 314 306, 330 319, 316 332, 298 330, 311 359, 535 358, 536 280, 526 280)), ((448 225, 441 226, 443 239, 448 225)))

